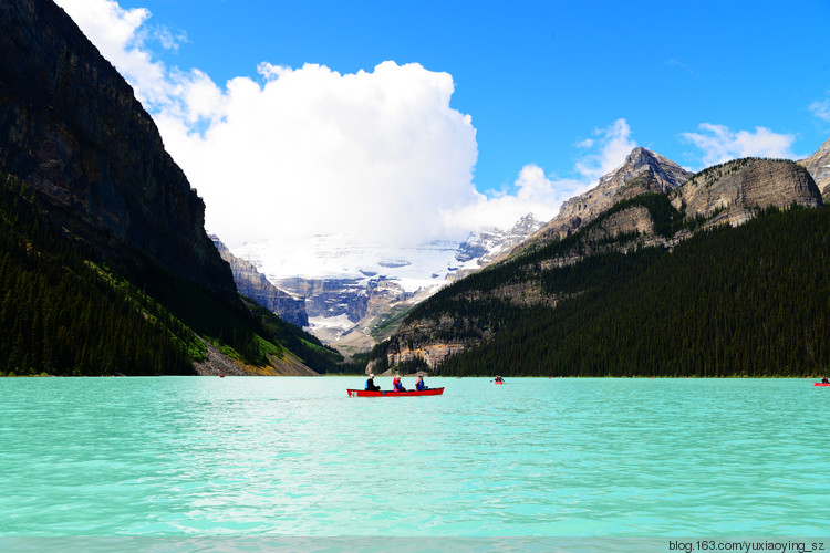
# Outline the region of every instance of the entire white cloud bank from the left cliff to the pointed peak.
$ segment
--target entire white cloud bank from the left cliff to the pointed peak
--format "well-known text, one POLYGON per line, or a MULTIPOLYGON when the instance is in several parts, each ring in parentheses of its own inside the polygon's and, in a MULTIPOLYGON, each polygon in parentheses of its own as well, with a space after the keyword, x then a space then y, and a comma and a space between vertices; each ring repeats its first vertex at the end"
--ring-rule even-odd
POLYGON ((634 147, 619 119, 579 144, 577 177, 528 164, 509 192, 483 195, 473 184, 476 129, 450 107, 447 73, 392 61, 352 74, 262 62, 253 77, 217 84, 153 58, 151 38, 164 48, 183 38, 148 31, 147 10, 59 3, 134 86, 205 199, 207 229, 231 247, 314 234, 405 246, 509 228, 528 212, 548 220, 634 147))

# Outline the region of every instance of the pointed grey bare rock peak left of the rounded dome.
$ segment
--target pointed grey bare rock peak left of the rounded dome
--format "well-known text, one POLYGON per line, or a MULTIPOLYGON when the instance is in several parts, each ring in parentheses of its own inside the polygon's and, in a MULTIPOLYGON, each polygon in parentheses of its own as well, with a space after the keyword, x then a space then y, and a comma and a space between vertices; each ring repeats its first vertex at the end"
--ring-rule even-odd
POLYGON ((547 243, 571 234, 591 222, 618 201, 644 192, 665 192, 688 180, 694 174, 674 161, 645 148, 634 148, 625 163, 603 176, 591 190, 564 204, 531 241, 547 243))

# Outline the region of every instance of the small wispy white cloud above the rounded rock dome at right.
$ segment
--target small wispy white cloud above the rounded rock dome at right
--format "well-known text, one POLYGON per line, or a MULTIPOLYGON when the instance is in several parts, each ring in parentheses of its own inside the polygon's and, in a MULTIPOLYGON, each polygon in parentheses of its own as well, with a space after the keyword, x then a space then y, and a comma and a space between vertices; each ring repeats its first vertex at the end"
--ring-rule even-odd
POLYGON ((722 164, 741 157, 795 158, 790 149, 796 137, 779 134, 765 127, 755 127, 755 132, 732 131, 725 125, 702 123, 702 133, 683 133, 681 136, 701 148, 705 166, 722 164))

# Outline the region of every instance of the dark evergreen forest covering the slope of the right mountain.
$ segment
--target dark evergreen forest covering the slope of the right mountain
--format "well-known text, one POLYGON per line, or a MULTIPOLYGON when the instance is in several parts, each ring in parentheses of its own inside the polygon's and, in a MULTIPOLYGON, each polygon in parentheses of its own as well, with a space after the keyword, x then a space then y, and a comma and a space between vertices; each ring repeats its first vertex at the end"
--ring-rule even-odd
MULTIPOLYGON (((658 229, 683 218, 653 195, 658 229)), ((653 209, 653 210, 652 210, 653 209)), ((815 376, 830 367, 830 209, 767 210, 737 227, 699 232, 673 251, 608 251, 562 268, 590 229, 464 279, 409 320, 452 314, 439 340, 481 344, 442 364, 443 375, 815 376), (489 294, 537 279, 549 303, 489 294)), ((625 237, 632 239, 633 237, 625 237)), ((619 238, 618 238, 619 239, 619 238)), ((416 337, 417 340, 417 337, 416 337)), ((388 344, 380 345, 380 357, 388 344)))

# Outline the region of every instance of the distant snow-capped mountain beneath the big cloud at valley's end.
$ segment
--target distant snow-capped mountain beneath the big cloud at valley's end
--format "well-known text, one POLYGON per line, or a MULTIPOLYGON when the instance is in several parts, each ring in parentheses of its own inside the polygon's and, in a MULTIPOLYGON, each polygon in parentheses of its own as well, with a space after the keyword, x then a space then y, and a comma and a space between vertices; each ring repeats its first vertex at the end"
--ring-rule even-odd
POLYGON ((378 323, 506 254, 543 226, 529 213, 509 230, 474 232, 460 242, 394 248, 320 234, 231 250, 279 289, 305 298, 308 328, 347 353, 371 346, 370 332, 378 323))

